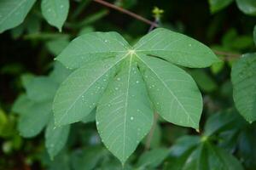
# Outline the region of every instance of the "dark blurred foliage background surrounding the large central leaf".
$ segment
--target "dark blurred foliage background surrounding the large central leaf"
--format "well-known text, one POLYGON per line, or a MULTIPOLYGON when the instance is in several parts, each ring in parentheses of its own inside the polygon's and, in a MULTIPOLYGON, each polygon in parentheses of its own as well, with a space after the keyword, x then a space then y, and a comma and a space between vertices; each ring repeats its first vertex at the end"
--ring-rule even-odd
MULTIPOLYGON (((0 2, 0 169, 121 169, 95 111, 54 126, 55 91, 71 71, 53 59, 86 32, 118 31, 134 44, 150 26, 90 0, 19 2, 0 2)), ((255 1, 110 3, 207 44, 224 61, 186 69, 203 94, 199 132, 157 117, 124 169, 256 169, 255 1)))

